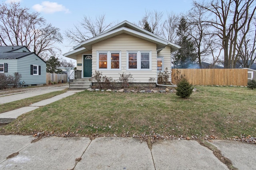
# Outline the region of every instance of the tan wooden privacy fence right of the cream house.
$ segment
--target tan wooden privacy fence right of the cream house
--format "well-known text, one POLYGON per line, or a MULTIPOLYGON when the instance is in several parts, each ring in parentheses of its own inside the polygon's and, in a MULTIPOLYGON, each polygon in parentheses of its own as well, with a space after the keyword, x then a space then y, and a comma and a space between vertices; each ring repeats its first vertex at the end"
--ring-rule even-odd
POLYGON ((177 70, 185 74, 193 85, 247 86, 246 69, 172 69, 172 83, 176 84, 174 74, 177 70))

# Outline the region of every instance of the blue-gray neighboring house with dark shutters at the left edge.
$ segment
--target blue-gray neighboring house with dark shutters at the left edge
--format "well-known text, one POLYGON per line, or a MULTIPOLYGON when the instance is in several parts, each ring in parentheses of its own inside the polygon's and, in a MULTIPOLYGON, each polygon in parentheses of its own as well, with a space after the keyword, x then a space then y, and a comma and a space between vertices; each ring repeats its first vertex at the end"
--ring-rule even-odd
POLYGON ((0 73, 21 74, 24 86, 46 84, 46 62, 25 46, 0 46, 0 73))

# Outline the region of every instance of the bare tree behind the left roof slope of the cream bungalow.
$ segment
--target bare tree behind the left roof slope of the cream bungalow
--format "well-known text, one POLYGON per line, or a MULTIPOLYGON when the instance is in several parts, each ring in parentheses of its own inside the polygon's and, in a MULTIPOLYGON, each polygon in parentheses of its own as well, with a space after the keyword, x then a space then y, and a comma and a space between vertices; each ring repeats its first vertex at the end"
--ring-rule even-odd
POLYGON ((77 44, 95 37, 111 27, 112 24, 113 22, 105 22, 105 14, 96 16, 95 20, 89 16, 84 16, 83 20, 79 23, 80 26, 74 25, 74 29, 67 29, 65 35, 72 43, 77 44))

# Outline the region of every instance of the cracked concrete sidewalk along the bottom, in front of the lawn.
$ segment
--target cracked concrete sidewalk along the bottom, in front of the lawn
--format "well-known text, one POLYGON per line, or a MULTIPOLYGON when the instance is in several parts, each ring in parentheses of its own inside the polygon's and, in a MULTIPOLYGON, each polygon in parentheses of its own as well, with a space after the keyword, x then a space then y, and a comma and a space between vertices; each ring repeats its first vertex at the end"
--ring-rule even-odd
MULTIPOLYGON (((228 170, 210 149, 192 140, 157 141, 151 150, 146 141, 136 138, 46 137, 31 143, 32 140, 30 136, 0 135, 0 169, 228 170)), ((212 144, 236 168, 256 169, 255 145, 221 140, 212 144)))

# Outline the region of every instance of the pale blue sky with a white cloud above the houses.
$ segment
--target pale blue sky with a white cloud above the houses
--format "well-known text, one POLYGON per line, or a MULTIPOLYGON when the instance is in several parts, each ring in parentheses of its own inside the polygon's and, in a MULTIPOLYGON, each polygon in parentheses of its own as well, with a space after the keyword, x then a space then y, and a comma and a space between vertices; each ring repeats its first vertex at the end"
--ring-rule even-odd
MULTIPOLYGON (((10 1, 20 2, 21 6, 26 6, 31 11, 40 12, 48 23, 60 28, 62 34, 66 29, 71 29, 74 24, 77 25, 82 21, 83 16, 94 19, 105 14, 106 23, 113 21, 120 23, 124 20, 138 23, 146 10, 163 12, 163 18, 166 18, 167 13, 186 13, 192 7, 192 0, 4 0, 2 2, 10 1)), ((65 37, 63 44, 58 46, 62 49, 62 54, 72 48, 65 37)))

